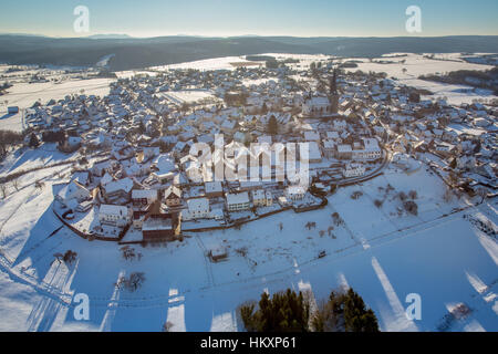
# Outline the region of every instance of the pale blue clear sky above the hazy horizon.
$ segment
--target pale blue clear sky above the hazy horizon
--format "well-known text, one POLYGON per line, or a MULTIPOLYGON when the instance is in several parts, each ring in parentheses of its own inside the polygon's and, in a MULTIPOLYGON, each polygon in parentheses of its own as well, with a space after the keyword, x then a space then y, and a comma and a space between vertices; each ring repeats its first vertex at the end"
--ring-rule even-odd
POLYGON ((405 31, 408 6, 422 9, 416 35, 498 35, 498 0, 1 0, 0 33, 413 35, 405 31), (73 31, 80 4, 90 9, 90 33, 73 31))

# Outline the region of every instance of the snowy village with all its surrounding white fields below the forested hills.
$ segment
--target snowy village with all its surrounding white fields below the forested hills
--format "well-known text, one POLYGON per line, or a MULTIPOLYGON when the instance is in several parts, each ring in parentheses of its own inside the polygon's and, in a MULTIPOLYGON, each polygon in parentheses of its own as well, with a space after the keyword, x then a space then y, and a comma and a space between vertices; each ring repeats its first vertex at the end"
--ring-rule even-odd
POLYGON ((0 331, 498 331, 498 54, 113 60, 0 65, 0 331))

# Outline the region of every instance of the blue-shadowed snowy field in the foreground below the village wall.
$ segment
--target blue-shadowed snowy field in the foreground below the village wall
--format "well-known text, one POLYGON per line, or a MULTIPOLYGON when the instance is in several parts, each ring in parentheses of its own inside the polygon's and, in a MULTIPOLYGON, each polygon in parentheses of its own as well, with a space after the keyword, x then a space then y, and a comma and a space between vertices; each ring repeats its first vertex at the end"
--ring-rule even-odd
POLYGON ((61 226, 51 210, 56 179, 46 177, 40 190, 29 185, 37 176, 24 178, 28 185, 0 202, 0 330, 160 331, 168 321, 173 331, 240 331, 237 306, 264 290, 311 289, 320 300, 344 284, 372 306, 383 331, 435 331, 461 302, 471 313, 450 322, 449 331, 498 330, 498 244, 464 218, 496 225, 497 202, 445 204, 442 180, 425 167, 405 175, 393 166, 339 189, 321 210, 286 211, 165 247, 134 246, 142 253, 134 261, 113 242, 85 241, 65 228, 51 236, 61 226), (388 184, 394 190, 386 195, 388 184), (398 216, 395 194, 412 189, 419 214, 398 216), (354 200, 357 190, 363 195, 354 200), (373 200, 383 197, 377 209, 373 200), (334 212, 344 225, 333 222, 334 212), (307 229, 309 221, 317 227, 307 229), (218 246, 228 259, 212 263, 205 254, 218 246), (74 266, 54 261, 69 249, 79 254, 74 266), (322 250, 326 257, 319 259, 322 250), (116 289, 117 279, 132 272, 145 273, 143 288, 116 289), (76 293, 90 298, 90 321, 74 319, 76 293), (411 293, 422 296, 421 321, 404 314, 411 293))

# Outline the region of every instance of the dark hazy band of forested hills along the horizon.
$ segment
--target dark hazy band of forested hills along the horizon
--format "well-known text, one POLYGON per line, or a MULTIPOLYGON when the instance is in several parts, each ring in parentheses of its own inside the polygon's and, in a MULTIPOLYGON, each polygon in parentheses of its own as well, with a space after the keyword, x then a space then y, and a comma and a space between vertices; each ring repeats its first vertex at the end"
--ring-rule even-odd
POLYGON ((114 54, 110 61, 110 67, 113 71, 269 52, 366 58, 393 52, 498 53, 498 35, 438 38, 199 38, 174 35, 147 39, 121 34, 72 39, 0 35, 0 62, 91 66, 101 58, 114 54))

